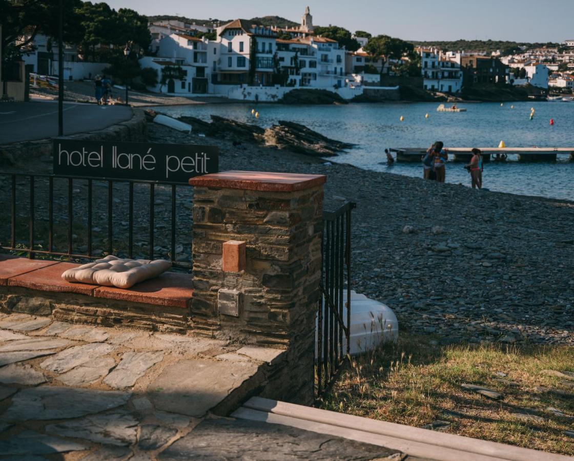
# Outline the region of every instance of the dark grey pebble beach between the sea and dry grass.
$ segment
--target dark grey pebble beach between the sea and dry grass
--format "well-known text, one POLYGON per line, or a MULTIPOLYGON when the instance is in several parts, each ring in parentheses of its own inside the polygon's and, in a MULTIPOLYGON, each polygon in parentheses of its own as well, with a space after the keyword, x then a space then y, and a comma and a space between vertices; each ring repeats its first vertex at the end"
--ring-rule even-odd
POLYGON ((440 343, 574 345, 574 203, 367 171, 153 123, 148 131, 152 142, 219 146, 222 171, 326 174, 325 209, 357 204, 353 288, 393 308, 402 330, 440 343))

